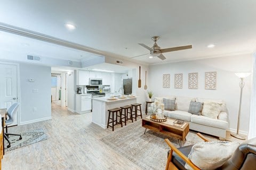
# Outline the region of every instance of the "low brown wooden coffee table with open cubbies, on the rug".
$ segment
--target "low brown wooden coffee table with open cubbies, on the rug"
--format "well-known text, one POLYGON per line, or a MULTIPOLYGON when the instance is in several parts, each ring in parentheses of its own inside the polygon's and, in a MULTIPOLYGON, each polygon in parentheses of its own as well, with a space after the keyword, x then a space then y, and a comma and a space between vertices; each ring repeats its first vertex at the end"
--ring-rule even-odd
POLYGON ((189 132, 189 123, 185 122, 181 128, 172 125, 172 122, 175 121, 172 118, 167 118, 166 122, 154 122, 151 121, 149 116, 142 118, 142 127, 145 128, 146 133, 147 129, 160 132, 166 135, 169 135, 172 138, 178 139, 179 146, 181 147, 182 141, 186 140, 186 136, 189 132))

